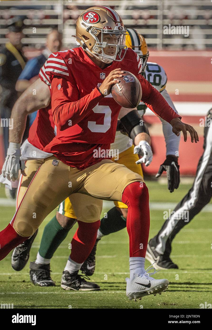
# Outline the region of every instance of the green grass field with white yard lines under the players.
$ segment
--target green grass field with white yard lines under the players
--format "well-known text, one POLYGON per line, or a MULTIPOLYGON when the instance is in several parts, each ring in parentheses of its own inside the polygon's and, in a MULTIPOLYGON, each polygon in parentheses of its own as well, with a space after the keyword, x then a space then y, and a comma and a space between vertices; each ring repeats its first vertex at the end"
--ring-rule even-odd
MULTIPOLYGON (((3 186, 3 185, 2 185, 3 186)), ((0 198, 4 198, 4 189, 0 188, 0 198)), ((165 185, 147 182, 150 192, 150 202, 178 201, 190 188, 181 184, 179 189, 170 194, 165 185)), ((163 211, 151 211, 150 238, 159 230, 163 223, 163 211)), ((103 212, 107 212, 104 209, 103 212)), ((14 215, 15 207, 0 206, 0 229, 6 227, 14 215)), ((34 261, 43 228, 52 218, 50 214, 39 228, 39 233, 33 243, 30 261, 34 261)), ((173 242, 172 259, 179 270, 160 271, 155 278, 167 278, 169 289, 161 295, 146 296, 141 301, 129 301, 125 296, 125 277, 128 273, 128 235, 126 229, 104 237, 97 246, 96 271, 91 281, 98 283, 100 291, 66 291, 60 287, 63 268, 69 256, 69 243, 76 225, 52 259, 52 278, 55 287, 34 286, 29 279, 29 262, 21 272, 15 272, 11 267, 12 252, 0 262, 0 303, 14 304, 14 308, 194 308, 200 304, 212 303, 212 223, 211 213, 202 212, 181 230, 173 242)), ((150 263, 146 261, 146 268, 150 263)))

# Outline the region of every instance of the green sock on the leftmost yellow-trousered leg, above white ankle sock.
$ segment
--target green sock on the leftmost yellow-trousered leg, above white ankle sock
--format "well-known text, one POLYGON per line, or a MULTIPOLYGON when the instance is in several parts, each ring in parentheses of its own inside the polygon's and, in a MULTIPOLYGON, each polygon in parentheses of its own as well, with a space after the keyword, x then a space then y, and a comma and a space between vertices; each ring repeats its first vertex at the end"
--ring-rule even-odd
POLYGON ((69 230, 60 226, 55 215, 44 228, 39 249, 40 255, 43 258, 51 259, 58 246, 66 238, 69 230))

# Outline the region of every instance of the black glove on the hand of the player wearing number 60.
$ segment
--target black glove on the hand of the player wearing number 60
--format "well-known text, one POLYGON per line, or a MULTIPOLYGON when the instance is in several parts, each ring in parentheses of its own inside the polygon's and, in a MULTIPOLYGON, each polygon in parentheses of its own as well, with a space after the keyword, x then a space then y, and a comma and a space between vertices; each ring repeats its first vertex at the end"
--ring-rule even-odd
POLYGON ((160 165, 156 178, 159 178, 163 171, 167 173, 168 190, 173 192, 180 184, 180 166, 178 165, 178 158, 172 155, 167 155, 166 160, 160 165))

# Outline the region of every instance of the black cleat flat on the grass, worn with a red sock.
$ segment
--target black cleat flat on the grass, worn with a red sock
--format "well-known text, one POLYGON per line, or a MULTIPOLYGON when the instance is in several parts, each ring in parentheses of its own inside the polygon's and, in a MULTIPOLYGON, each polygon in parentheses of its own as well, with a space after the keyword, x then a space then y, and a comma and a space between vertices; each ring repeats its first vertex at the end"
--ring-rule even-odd
POLYGON ((89 277, 84 275, 78 275, 78 271, 74 273, 69 273, 67 270, 62 273, 61 287, 64 290, 80 290, 80 291, 90 291, 90 290, 100 290, 100 287, 93 282, 87 282, 89 277))

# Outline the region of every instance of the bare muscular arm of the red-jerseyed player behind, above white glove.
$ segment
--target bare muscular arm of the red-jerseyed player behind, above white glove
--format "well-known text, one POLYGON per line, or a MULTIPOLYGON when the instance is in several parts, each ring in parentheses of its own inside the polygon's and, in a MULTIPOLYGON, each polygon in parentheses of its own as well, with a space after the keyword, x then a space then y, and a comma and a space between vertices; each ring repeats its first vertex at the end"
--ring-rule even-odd
POLYGON ((9 142, 21 143, 27 115, 47 107, 50 100, 49 87, 40 78, 23 92, 12 109, 13 129, 9 130, 9 142))

